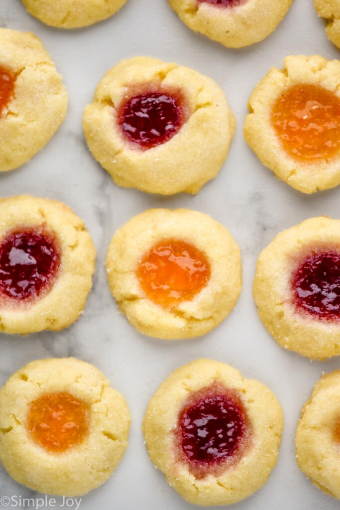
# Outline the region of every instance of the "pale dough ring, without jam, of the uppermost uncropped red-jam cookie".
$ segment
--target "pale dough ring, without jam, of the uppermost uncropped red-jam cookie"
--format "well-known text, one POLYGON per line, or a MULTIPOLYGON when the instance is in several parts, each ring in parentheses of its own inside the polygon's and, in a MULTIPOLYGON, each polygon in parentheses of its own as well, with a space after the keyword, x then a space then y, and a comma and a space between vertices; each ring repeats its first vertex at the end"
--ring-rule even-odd
POLYGON ((150 57, 123 60, 100 81, 83 125, 93 157, 118 186, 171 195, 197 193, 218 174, 236 121, 220 87, 193 69, 150 57), (122 101, 136 87, 180 89, 188 120, 167 142, 142 150, 122 134, 116 121, 122 101))

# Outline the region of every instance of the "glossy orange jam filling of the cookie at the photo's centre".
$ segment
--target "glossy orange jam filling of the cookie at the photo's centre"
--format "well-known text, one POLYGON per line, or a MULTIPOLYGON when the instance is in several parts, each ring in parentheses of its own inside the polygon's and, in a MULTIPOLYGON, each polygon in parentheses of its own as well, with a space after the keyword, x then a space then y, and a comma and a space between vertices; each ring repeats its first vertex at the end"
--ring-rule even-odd
POLYGON ((193 299, 207 284, 210 273, 202 251, 185 241, 169 239, 146 253, 137 276, 148 298, 171 308, 193 299))

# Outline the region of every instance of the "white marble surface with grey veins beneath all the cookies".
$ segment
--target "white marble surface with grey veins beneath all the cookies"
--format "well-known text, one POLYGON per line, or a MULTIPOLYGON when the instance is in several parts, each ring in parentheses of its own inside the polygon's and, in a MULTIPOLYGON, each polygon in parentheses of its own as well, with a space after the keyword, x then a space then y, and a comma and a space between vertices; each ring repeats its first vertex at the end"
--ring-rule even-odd
MULTIPOLYGON (((238 51, 189 31, 166 0, 129 0, 113 18, 68 32, 45 27, 25 11, 20 0, 0 0, 0 25, 35 32, 56 61, 69 92, 69 112, 60 131, 29 164, 0 176, 0 195, 31 193, 62 200, 85 220, 98 252, 93 292, 84 316, 76 324, 60 333, 28 338, 2 335, 0 384, 31 360, 73 355, 93 363, 111 379, 125 395, 133 417, 123 461, 107 483, 83 498, 81 509, 193 508, 151 465, 143 445, 141 422, 147 401, 161 381, 173 369, 200 356, 230 363, 244 376, 263 381, 275 391, 285 415, 279 461, 268 483, 230 508, 338 508, 335 500, 315 489, 299 471, 294 437, 301 406, 313 384, 323 371, 338 368, 339 362, 311 363, 281 349, 257 317, 252 278, 259 251, 283 228, 317 215, 340 217, 340 188, 312 196, 294 191, 256 160, 242 135, 247 99, 271 66, 280 67, 288 54, 340 56, 327 41, 324 23, 313 10, 312 0, 295 0, 271 37, 238 51), (81 126, 84 106, 103 73, 120 59, 135 55, 175 60, 210 75, 225 90, 237 116, 229 157, 217 179, 197 196, 164 198, 119 189, 86 148, 81 126), (215 331, 198 340, 169 343, 139 335, 118 314, 109 292, 104 259, 113 233, 130 217, 150 207, 178 206, 211 214, 229 228, 242 248, 244 286, 236 309, 215 331)), ((0 468, 2 495, 38 497, 0 468)), ((5 505, 0 504, 0 508, 5 505)))

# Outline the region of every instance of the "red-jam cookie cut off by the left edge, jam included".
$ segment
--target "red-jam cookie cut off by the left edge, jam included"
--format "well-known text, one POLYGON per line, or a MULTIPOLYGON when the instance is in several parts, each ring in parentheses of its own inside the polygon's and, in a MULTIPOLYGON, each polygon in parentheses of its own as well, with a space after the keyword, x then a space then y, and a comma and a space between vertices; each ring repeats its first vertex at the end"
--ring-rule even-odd
POLYGON ((0 200, 0 330, 27 334, 69 326, 92 287, 95 249, 62 202, 29 195, 0 200))

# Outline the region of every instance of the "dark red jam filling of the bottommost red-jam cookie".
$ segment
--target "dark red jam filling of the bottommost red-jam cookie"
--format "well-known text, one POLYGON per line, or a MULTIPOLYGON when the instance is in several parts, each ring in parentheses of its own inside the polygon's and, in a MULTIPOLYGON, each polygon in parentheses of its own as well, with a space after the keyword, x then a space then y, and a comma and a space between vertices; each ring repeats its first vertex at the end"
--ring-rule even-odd
POLYGON ((244 451, 249 423, 236 390, 220 383, 192 394, 178 417, 179 447, 196 478, 234 464, 244 451))

